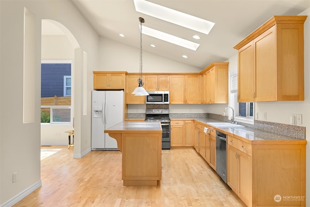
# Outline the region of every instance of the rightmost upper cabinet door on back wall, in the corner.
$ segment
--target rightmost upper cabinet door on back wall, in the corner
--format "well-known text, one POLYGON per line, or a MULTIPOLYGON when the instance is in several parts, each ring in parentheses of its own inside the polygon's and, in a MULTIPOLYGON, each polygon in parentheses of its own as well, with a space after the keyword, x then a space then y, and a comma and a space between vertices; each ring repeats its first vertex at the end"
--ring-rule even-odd
POLYGON ((186 104, 200 104, 200 75, 185 76, 185 97, 186 104))

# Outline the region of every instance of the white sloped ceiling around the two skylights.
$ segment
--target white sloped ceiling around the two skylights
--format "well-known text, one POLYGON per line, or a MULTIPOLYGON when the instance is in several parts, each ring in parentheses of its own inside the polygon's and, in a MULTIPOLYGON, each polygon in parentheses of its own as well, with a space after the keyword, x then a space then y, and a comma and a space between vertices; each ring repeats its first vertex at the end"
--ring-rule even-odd
POLYGON ((203 34, 136 12, 133 0, 71 1, 100 36, 129 46, 140 47, 139 17, 145 19, 146 27, 199 43, 200 47, 193 51, 142 36, 144 51, 201 69, 232 57, 236 54, 233 46, 272 16, 298 15, 310 7, 310 0, 149 0, 216 23, 209 34, 203 34), (125 37, 121 38, 119 33, 125 37), (194 34, 201 39, 193 39, 194 34))

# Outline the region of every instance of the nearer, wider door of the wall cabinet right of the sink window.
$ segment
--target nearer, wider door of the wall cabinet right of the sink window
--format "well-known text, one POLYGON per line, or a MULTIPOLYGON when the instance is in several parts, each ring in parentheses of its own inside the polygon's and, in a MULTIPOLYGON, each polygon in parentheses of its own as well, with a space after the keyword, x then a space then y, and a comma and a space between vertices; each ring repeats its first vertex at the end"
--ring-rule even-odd
MULTIPOLYGON (((275 101, 276 34, 275 26, 253 40, 255 54, 255 101, 275 101)), ((280 69, 278 71, 280 73, 280 69)))

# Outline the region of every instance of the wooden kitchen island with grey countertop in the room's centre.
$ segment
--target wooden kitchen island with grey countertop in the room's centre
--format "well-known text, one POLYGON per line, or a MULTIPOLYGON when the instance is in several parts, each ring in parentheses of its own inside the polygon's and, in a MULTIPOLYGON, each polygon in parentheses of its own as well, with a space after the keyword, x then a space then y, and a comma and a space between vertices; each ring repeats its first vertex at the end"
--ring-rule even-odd
POLYGON ((157 186, 161 180, 159 122, 124 121, 106 130, 122 152, 124 186, 157 186))

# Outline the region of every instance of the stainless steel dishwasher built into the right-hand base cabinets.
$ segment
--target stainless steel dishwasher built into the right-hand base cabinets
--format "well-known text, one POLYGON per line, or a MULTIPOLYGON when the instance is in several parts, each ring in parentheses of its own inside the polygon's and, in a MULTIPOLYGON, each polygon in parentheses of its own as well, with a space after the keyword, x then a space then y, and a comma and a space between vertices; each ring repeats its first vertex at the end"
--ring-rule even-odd
POLYGON ((217 131, 217 174, 227 183, 226 177, 226 139, 227 135, 217 131))

